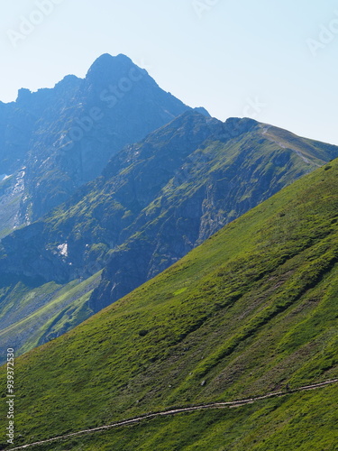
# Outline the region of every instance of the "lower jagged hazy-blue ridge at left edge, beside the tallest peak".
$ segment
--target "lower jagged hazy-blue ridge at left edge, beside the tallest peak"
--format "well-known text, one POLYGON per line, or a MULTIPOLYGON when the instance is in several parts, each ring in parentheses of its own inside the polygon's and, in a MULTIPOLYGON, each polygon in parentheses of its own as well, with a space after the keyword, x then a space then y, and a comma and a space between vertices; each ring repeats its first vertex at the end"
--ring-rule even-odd
MULTIPOLYGON (((42 149, 50 147, 50 143, 41 143, 42 131, 45 133, 50 128, 50 119, 55 122, 63 116, 62 111, 68 110, 79 81, 76 77, 65 78, 58 87, 36 93, 20 89, 16 102, 0 102, 0 175, 9 177, 0 189, 1 238, 31 219, 31 213, 23 211, 22 203, 28 195, 25 182, 32 145, 40 143, 42 149)), ((41 164, 47 157, 35 152, 32 158, 36 159, 35 164, 41 164)))

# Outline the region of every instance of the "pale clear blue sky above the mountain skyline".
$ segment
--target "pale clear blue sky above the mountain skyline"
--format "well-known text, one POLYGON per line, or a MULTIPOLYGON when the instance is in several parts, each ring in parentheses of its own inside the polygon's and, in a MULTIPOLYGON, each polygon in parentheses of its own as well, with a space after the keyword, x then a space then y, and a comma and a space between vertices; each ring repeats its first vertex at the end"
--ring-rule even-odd
POLYGON ((335 0, 8 0, 0 30, 4 102, 124 53, 221 120, 338 144, 335 0))

